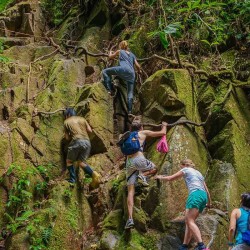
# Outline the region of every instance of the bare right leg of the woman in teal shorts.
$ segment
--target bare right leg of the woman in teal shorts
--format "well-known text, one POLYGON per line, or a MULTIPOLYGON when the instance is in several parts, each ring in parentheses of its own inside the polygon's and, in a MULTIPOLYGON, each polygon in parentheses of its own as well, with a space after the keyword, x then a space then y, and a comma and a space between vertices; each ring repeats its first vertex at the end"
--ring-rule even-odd
POLYGON ((199 210, 197 208, 186 209, 185 223, 186 223, 186 226, 188 227, 188 230, 194 236, 195 240, 197 242, 202 242, 200 229, 195 223, 195 220, 197 219, 198 216, 199 216, 199 210))

